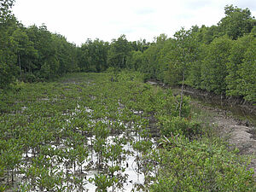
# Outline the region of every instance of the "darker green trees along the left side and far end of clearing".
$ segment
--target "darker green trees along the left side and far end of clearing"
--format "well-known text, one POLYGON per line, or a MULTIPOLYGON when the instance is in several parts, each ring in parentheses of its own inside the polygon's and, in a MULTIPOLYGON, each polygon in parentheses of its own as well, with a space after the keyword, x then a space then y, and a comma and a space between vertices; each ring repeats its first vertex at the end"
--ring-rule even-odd
POLYGON ((14 3, 0 2, 0 89, 17 80, 44 81, 70 72, 125 68, 132 50, 143 51, 148 46, 145 40, 128 42, 122 35, 111 44, 88 39, 78 47, 46 26, 23 26, 11 12, 14 3))

